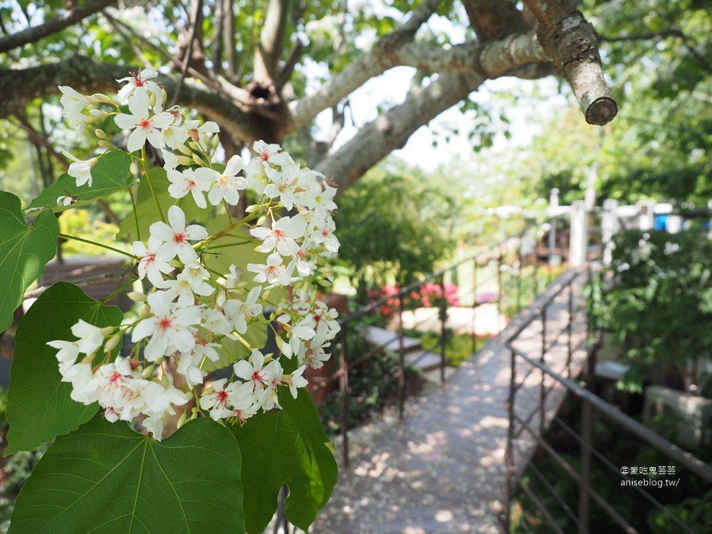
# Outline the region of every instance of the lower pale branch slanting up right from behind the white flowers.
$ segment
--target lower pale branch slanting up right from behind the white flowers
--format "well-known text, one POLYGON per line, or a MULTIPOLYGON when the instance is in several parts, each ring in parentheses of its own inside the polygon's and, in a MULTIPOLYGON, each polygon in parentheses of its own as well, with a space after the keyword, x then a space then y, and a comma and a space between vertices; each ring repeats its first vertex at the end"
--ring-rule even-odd
POLYGON ((402 148, 422 125, 464 100, 484 78, 444 74, 425 88, 413 88, 401 105, 381 113, 316 169, 333 177, 343 192, 393 150, 402 148))

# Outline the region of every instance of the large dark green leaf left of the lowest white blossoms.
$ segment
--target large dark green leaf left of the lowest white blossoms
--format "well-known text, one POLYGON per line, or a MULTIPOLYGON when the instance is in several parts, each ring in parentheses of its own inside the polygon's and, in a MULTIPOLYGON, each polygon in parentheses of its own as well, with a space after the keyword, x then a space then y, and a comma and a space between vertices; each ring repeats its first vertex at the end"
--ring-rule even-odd
POLYGON ((6 454, 31 451, 93 417, 98 404, 86 406, 70 399, 72 387, 61 382, 57 349, 46 343, 76 340, 70 328, 80 319, 103 328, 119 325, 122 318, 119 308, 100 305, 70 283, 56 283, 40 295, 20 320, 15 335, 6 454))

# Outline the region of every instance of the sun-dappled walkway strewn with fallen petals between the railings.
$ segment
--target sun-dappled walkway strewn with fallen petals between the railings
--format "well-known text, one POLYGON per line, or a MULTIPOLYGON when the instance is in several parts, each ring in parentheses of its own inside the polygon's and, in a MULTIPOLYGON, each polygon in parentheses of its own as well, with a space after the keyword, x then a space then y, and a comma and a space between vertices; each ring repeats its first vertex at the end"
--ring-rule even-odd
MULTIPOLYGON (((557 288, 554 283, 538 301, 557 288)), ((565 290, 548 313, 552 341, 553 333, 565 329, 567 294, 565 290)), ((331 501, 310 533, 503 533, 511 361, 504 343, 533 313, 530 308, 515 318, 502 335, 453 370, 444 385, 431 383, 417 399, 409 399, 402 422, 397 414, 387 412, 352 431, 350 466, 340 466, 331 501)), ((583 335, 584 325, 578 322, 574 347, 583 335)), ((565 334, 559 337, 565 345, 565 334)), ((516 346, 539 355, 540 344, 541 325, 534 321, 516 346)), ((577 351, 574 360, 581 362, 584 357, 583 351, 577 351)), ((555 369, 565 359, 565 347, 547 356, 555 369)), ((523 376, 526 366, 522 363, 519 368, 518 375, 523 376)), ((535 407, 532 401, 538 399, 539 383, 540 374, 531 373, 515 403, 521 414, 535 407)), ((562 390, 550 395, 549 417, 563 397, 562 390)), ((533 453, 533 443, 532 438, 518 441, 518 468, 533 453)))

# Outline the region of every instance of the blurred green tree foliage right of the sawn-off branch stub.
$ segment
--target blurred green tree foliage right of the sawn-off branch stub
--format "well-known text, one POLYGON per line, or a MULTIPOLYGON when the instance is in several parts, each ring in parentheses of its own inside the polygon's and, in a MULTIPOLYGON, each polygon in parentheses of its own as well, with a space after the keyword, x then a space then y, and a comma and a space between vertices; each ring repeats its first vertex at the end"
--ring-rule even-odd
POLYGON ((706 206, 712 197, 712 12, 708 2, 587 1, 621 103, 617 120, 585 130, 560 113, 538 136, 528 168, 533 192, 582 199, 642 198, 706 206), (636 26, 631 21, 639 21, 636 26), (571 146, 580 150, 571 150, 571 146), (530 174, 531 177, 531 174, 530 174))

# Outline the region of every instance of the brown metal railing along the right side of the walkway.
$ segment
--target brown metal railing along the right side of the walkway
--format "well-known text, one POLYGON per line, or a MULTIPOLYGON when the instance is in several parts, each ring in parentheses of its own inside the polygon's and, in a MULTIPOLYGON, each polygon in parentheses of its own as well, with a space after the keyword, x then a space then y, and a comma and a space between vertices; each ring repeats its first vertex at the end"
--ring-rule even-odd
MULTIPOLYGON (((538 508, 543 520, 548 523, 549 532, 573 532, 573 530, 562 529, 559 519, 564 516, 570 525, 575 525, 577 533, 592 532, 590 517, 592 506, 596 506, 596 512, 606 515, 612 523, 620 528, 621 532, 639 533, 641 530, 632 524, 632 511, 628 513, 620 511, 616 503, 609 502, 610 499, 604 498, 600 491, 593 487, 594 469, 592 464, 595 461, 597 465, 602 466, 600 470, 602 470, 603 476, 609 477, 610 481, 619 486, 626 488, 629 486, 629 491, 635 492, 641 499, 647 501, 651 508, 664 516, 665 520, 674 523, 676 531, 696 533, 696 530, 692 530, 691 526, 686 524, 684 518, 672 513, 654 494, 644 489, 652 486, 661 487, 661 484, 650 483, 650 479, 648 479, 649 483, 645 485, 642 478, 632 476, 634 473, 630 466, 615 465, 615 460, 609 457, 607 451, 598 450, 593 444, 593 424, 595 419, 599 418, 605 424, 613 425, 615 434, 621 439, 624 439, 623 436, 629 436, 631 439, 638 439, 642 446, 649 446, 659 451, 666 459, 666 466, 671 467, 673 473, 676 472, 676 469, 679 470, 678 474, 685 471, 686 476, 696 478, 702 485, 712 484, 712 468, 701 459, 664 439, 592 392, 597 345, 587 341, 591 340, 592 336, 585 337, 579 346, 574 346, 572 342, 573 325, 577 320, 585 320, 585 317, 582 317, 585 315, 585 310, 576 297, 576 288, 580 288, 582 280, 587 278, 587 273, 590 273, 589 268, 583 266, 572 269, 563 275, 559 281, 560 287, 546 300, 536 304, 538 310, 530 314, 530 319, 525 321, 506 343, 506 346, 511 350, 511 384, 508 399, 509 428, 505 455, 507 470, 506 528, 508 532, 512 531, 515 492, 520 488, 538 508), (564 325, 557 330, 551 328, 552 321, 550 321, 550 314, 553 314, 554 308, 558 315, 562 313, 562 309, 565 313, 564 325), (538 352, 518 350, 515 347, 518 337, 525 330, 529 329, 530 331, 532 323, 537 321, 540 323, 540 350, 538 352), (562 338, 565 339, 565 347, 562 347, 562 338), (586 357, 574 362, 575 351, 582 349, 585 350, 586 357), (550 356, 556 350, 565 351, 565 365, 562 366, 562 369, 555 371, 550 365, 550 360, 553 360, 550 356), (577 370, 572 367, 574 365, 587 366, 589 380, 586 387, 575 381, 577 370), (538 379, 532 379, 532 377, 538 379), (554 393, 556 391, 559 391, 558 397, 554 393), (556 404, 560 404, 564 400, 562 392, 580 399, 580 431, 573 429, 571 424, 563 421, 557 415, 556 404), (522 413, 522 410, 518 409, 523 404, 525 395, 528 413, 522 413), (536 400, 532 401, 532 397, 536 400), (547 430, 554 426, 564 432, 571 444, 577 446, 579 451, 577 461, 567 461, 557 452, 555 446, 547 441, 547 430), (562 476, 562 473, 570 477, 573 485, 578 488, 578 495, 575 498, 577 502, 574 506, 566 502, 567 496, 561 495, 557 491, 557 480, 551 476, 551 473, 548 473, 549 476, 547 476, 547 473, 543 473, 539 469, 533 471, 534 478, 538 480, 538 487, 546 488, 545 495, 535 492, 523 478, 523 471, 530 464, 534 449, 534 447, 518 447, 523 439, 534 441, 542 454, 552 459, 560 467, 556 471, 557 477, 562 476), (545 504, 545 501, 549 503, 549 506, 545 504), (550 503, 555 503, 556 506, 553 508, 550 503)), ((561 321, 559 320, 558 323, 560 324, 561 321)), ((561 445, 560 438, 557 443, 559 446, 561 445)), ((637 466, 634 468, 637 471, 637 466)), ((652 480, 657 482, 663 479, 653 478, 652 480)), ((672 482, 674 480, 671 480, 672 482)), ((518 523, 518 527, 523 532, 530 531, 527 523, 523 520, 518 523)))

